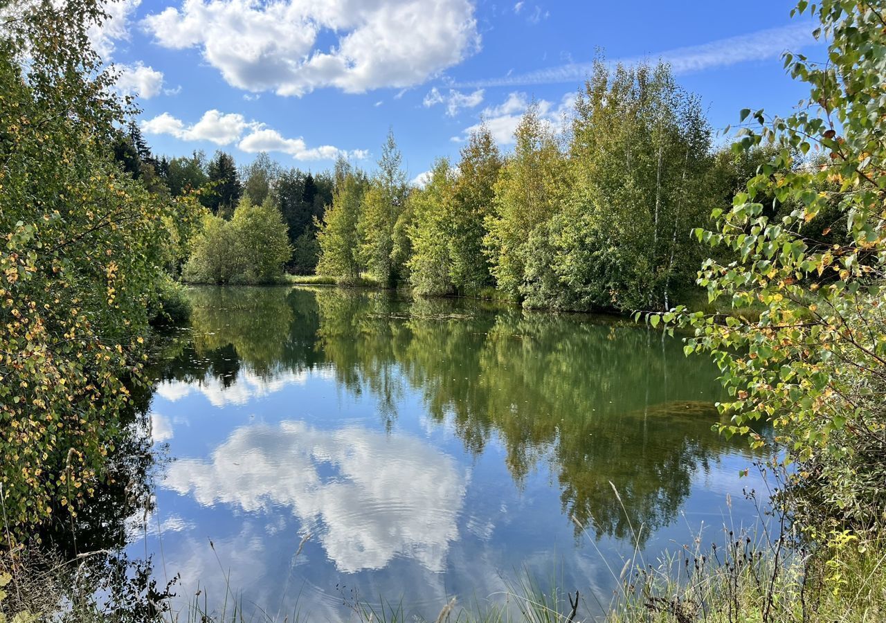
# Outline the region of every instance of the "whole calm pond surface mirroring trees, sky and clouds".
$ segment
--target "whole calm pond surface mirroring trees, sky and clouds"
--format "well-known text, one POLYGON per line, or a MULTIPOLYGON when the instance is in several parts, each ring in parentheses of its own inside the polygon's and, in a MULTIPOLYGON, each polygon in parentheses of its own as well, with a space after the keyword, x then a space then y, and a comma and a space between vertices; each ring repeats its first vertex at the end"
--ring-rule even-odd
POLYGON ((179 599, 220 608, 228 586, 247 609, 339 620, 384 596, 434 619, 529 572, 592 611, 638 541, 654 562, 752 520, 738 472, 755 457, 711 432, 715 370, 679 339, 382 292, 190 298, 156 366, 167 460, 130 546, 181 573, 179 599))

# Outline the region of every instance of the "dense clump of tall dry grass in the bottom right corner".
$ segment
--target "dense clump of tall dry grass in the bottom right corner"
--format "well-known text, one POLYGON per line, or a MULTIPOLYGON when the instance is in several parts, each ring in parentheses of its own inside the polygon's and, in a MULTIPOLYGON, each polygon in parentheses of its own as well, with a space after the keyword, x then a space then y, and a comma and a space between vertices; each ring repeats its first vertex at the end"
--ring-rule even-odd
POLYGON ((719 547, 679 550, 634 572, 605 620, 877 623, 886 620, 884 552, 882 539, 835 553, 777 541, 761 548, 750 535, 728 533, 719 547))

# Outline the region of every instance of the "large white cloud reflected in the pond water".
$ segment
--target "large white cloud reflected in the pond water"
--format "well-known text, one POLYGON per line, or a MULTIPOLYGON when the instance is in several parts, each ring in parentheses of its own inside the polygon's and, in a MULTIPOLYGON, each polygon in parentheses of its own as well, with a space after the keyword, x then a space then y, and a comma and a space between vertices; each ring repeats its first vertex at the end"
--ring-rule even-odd
POLYGON ((450 456, 411 437, 283 422, 239 428, 208 459, 172 463, 163 487, 204 506, 288 507, 341 572, 396 556, 442 572, 466 482, 450 456))

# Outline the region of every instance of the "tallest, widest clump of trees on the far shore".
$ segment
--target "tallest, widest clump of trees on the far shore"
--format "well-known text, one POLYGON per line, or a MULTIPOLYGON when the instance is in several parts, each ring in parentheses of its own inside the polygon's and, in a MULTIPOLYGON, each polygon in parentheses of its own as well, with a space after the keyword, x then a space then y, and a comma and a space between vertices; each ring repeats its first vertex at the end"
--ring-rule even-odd
POLYGON ((701 261, 688 231, 716 204, 710 144, 668 66, 597 61, 576 103, 568 197, 530 242, 527 304, 668 307, 701 261))

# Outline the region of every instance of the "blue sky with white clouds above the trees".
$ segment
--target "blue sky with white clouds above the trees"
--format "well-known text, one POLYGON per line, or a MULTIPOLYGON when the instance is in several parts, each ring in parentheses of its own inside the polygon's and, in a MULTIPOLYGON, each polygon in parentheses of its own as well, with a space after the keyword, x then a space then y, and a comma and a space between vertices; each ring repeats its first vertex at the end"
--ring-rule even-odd
MULTIPOLYGON (((123 0, 94 33, 138 93, 155 152, 267 151, 372 168, 392 127, 410 177, 457 157, 486 119, 504 149, 532 97, 557 122, 598 50, 664 58, 714 128, 743 107, 788 112, 803 85, 781 51, 816 55, 793 3, 485 0, 123 0)), ((818 48, 823 56, 823 51, 818 48)))

